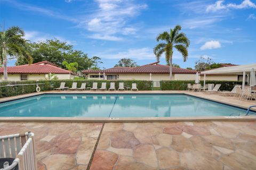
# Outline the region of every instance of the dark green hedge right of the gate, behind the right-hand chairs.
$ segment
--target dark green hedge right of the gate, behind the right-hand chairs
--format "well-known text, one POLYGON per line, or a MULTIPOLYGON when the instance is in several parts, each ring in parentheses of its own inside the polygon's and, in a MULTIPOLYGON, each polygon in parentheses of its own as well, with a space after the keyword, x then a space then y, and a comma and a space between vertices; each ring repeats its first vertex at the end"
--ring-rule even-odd
MULTIPOLYGON (((160 82, 162 90, 186 90, 188 83, 195 84, 194 80, 163 80, 160 82)), ((200 81, 204 84, 204 81, 200 81)), ((206 80, 206 84, 221 84, 220 90, 232 90, 235 84, 242 84, 242 81, 215 81, 215 80, 206 80)))

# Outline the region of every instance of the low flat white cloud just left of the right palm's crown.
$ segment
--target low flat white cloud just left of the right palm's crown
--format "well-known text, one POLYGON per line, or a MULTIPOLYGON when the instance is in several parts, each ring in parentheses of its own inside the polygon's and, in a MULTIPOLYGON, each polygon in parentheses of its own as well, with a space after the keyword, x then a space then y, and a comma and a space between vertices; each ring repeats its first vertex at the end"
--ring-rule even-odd
POLYGON ((122 52, 107 52, 95 55, 108 59, 132 58, 133 60, 154 60, 156 58, 153 53, 153 48, 148 47, 131 48, 122 52))

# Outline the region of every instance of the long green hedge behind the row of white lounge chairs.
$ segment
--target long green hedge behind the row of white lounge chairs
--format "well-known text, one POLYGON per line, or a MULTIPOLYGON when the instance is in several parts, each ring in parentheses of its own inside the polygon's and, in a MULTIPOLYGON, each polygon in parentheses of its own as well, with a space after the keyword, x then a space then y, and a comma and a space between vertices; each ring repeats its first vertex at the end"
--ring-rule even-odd
MULTIPOLYGON (((137 88, 139 90, 152 90, 152 81, 143 81, 143 80, 40 80, 40 81, 4 81, 0 83, 0 86, 5 86, 7 84, 34 84, 34 83, 43 83, 39 84, 41 91, 50 90, 53 88, 60 87, 60 83, 65 82, 66 87, 71 87, 73 82, 77 82, 77 87, 81 87, 83 82, 86 83, 86 87, 92 87, 93 82, 98 82, 98 88, 101 87, 102 82, 107 83, 107 88, 110 87, 110 82, 115 82, 116 89, 119 86, 119 82, 124 82, 124 87, 132 87, 132 83, 137 83, 137 88)), ((36 85, 27 85, 27 86, 10 86, 10 87, 0 87, 0 98, 17 96, 23 94, 29 94, 31 92, 36 92, 36 85)))

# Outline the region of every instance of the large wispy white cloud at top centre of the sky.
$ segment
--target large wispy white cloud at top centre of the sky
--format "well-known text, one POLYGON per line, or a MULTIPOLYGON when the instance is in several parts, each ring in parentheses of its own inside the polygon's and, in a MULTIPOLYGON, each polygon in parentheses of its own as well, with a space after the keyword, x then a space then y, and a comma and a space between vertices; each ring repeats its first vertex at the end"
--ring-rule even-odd
POLYGON ((98 9, 82 18, 78 27, 94 32, 94 39, 120 40, 121 35, 134 35, 137 28, 127 26, 127 20, 137 16, 146 4, 134 4, 132 0, 95 0, 98 9), (118 37, 119 35, 119 37, 118 37), (103 38, 102 38, 103 37, 103 38), (116 38, 114 38, 116 37, 116 38))

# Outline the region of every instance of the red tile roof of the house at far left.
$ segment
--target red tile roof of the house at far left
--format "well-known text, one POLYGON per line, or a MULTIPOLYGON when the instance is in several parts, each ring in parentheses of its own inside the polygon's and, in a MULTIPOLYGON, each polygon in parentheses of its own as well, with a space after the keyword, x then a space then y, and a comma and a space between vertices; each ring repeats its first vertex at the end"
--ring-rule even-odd
MULTIPOLYGON (((4 72, 4 68, 0 68, 0 73, 4 72)), ((34 63, 31 65, 18 65, 7 67, 7 72, 10 74, 69 74, 68 70, 61 69, 57 65, 49 62, 43 61, 39 63, 34 63)), ((74 74, 74 73, 71 73, 74 74)))

